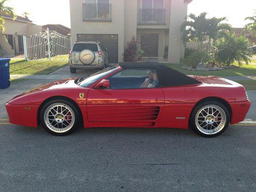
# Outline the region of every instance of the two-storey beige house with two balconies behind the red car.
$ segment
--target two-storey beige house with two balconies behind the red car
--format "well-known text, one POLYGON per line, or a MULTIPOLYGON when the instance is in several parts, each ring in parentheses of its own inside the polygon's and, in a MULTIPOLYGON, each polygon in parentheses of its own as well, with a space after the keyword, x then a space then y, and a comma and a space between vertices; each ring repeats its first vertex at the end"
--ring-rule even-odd
POLYGON ((110 62, 122 61, 127 41, 141 41, 144 57, 168 62, 184 57, 180 26, 192 0, 70 0, 72 44, 100 40, 109 48, 110 62))

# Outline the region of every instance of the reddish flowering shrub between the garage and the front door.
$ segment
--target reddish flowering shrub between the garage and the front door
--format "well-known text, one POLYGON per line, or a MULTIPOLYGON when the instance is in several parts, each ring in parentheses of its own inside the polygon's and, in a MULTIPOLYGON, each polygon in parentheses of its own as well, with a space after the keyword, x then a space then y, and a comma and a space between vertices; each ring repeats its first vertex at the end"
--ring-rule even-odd
POLYGON ((132 40, 127 42, 127 48, 124 50, 123 53, 123 61, 136 61, 138 57, 138 44, 140 44, 140 42, 136 41, 135 37, 132 37, 132 40))

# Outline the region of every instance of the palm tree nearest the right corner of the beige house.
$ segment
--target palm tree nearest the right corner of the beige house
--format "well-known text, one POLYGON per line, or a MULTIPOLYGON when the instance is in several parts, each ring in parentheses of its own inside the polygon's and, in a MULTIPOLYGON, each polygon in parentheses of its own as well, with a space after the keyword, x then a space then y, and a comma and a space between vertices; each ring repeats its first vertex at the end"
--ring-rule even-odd
POLYGON ((188 40, 197 40, 198 48, 201 47, 204 36, 207 34, 207 13, 203 12, 199 16, 190 13, 185 22, 181 25, 181 36, 183 44, 188 40))

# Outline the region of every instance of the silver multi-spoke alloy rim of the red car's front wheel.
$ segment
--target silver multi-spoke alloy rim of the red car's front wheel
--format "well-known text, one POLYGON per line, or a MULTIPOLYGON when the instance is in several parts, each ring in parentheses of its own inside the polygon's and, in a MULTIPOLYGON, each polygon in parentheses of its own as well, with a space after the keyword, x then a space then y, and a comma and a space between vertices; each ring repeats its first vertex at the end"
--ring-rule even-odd
POLYGON ((75 123, 75 113, 64 103, 54 103, 48 106, 44 113, 47 127, 56 133, 69 131, 75 123))

